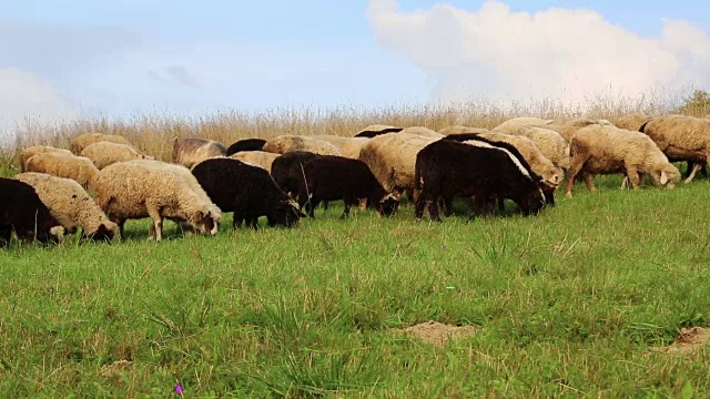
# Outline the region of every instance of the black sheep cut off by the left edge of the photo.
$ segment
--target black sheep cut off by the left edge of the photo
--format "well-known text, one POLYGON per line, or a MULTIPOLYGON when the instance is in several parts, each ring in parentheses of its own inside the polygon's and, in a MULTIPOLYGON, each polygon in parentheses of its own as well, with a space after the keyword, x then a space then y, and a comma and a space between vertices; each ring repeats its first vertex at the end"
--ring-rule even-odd
POLYGON ((58 224, 31 185, 0 177, 0 247, 10 243, 12 232, 20 239, 44 243, 58 224))

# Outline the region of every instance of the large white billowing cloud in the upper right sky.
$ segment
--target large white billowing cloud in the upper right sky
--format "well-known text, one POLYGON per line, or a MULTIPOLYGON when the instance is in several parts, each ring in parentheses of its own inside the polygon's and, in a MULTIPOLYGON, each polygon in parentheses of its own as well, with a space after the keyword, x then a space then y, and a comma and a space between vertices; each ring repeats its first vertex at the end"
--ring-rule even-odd
POLYGON ((637 96, 710 78, 710 35, 687 21, 663 20, 659 35, 640 37, 595 11, 513 12, 494 0, 412 12, 371 0, 367 16, 382 45, 438 76, 438 99, 637 96))

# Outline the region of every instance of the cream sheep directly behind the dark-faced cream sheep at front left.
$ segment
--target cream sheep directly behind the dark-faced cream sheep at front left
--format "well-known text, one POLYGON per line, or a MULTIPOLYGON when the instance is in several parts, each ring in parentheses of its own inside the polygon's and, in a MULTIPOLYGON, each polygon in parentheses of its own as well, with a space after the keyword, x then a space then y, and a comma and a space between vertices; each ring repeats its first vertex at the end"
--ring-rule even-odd
POLYGON ((93 180, 99 168, 84 156, 75 156, 60 152, 48 152, 33 155, 27 160, 26 172, 47 173, 57 177, 71 178, 82 187, 93 191, 93 180))

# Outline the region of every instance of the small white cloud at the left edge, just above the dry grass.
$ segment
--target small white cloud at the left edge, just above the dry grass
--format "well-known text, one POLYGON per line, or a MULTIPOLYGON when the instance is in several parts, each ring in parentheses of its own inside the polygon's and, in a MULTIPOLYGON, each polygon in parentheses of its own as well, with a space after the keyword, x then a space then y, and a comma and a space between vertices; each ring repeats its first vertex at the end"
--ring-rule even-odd
POLYGON ((0 143, 8 143, 24 122, 53 123, 77 116, 51 83, 17 68, 0 68, 0 143))

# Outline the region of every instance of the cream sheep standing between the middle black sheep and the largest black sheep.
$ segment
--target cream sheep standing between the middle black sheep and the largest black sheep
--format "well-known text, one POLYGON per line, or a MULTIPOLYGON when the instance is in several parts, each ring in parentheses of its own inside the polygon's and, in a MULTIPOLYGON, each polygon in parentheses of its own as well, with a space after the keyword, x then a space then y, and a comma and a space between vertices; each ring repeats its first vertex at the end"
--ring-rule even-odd
POLYGON ((387 133, 369 140, 359 153, 385 191, 397 195, 414 190, 414 171, 417 154, 438 139, 407 133, 387 133))

